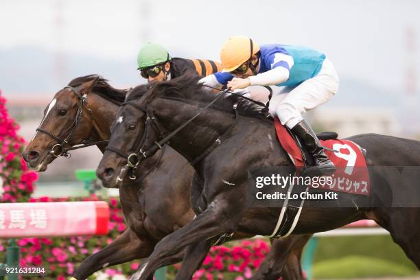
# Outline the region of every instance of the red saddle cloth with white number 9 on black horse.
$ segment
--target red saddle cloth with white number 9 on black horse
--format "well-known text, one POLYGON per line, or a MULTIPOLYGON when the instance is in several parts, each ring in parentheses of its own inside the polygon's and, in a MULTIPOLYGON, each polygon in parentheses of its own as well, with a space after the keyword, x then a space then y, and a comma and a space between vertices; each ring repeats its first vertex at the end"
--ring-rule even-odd
MULTIPOLYGON (((275 118, 275 128, 281 146, 289 154, 294 165, 296 167, 304 166, 305 162, 301 149, 277 117, 275 118)), ((330 185, 320 185, 318 188, 369 196, 371 194, 371 183, 366 160, 360 146, 353 141, 343 139, 320 140, 320 143, 324 147, 338 152, 325 150, 325 154, 336 165, 337 171, 332 175, 330 185)))

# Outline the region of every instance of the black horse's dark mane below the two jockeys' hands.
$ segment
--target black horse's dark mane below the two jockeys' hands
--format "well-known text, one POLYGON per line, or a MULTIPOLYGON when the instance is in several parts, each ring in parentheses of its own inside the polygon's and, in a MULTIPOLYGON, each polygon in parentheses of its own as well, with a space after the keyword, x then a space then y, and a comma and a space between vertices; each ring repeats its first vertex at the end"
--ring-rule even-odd
MULTIPOLYGON (((156 82, 151 86, 136 86, 132 89, 132 91, 130 91, 127 101, 138 99, 148 90, 151 90, 153 91, 153 95, 157 95, 161 98, 177 98, 185 100, 186 102, 198 101, 202 104, 209 104, 217 95, 207 91, 205 86, 198 83, 198 80, 200 80, 198 75, 185 74, 178 78, 174 78, 173 80, 156 82)), ((237 112, 240 115, 267 119, 264 117, 264 114, 261 113, 261 109, 263 107, 236 95, 223 97, 215 102, 212 107, 225 112, 233 113, 234 104, 237 104, 237 112)))

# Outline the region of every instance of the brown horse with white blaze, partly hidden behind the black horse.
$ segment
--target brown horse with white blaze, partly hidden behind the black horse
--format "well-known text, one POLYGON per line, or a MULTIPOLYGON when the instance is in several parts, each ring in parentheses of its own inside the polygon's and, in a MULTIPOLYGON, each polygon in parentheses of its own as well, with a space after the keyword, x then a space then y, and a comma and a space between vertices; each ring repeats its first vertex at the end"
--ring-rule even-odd
MULTIPOLYGON (((52 105, 45 109, 38 132, 23 153, 25 161, 44 171, 56 156, 66 154, 76 144, 97 143, 103 152, 103 141, 110 138, 110 126, 125 95, 126 91, 114 89, 96 75, 75 78, 69 87, 56 93, 52 105)), ((183 156, 169 147, 144 161, 135 173, 137 180, 124 181, 119 187, 128 228, 117 240, 84 260, 74 273, 75 279, 85 279, 106 266, 148 257, 159 240, 190 222, 194 218, 189 203, 193 172, 183 156)), ((309 237, 275 240, 253 279, 274 280, 281 275, 301 279, 299 259, 309 237), (287 269, 282 273, 285 264, 287 269)), ((182 257, 183 251, 165 264, 176 263, 182 257)))

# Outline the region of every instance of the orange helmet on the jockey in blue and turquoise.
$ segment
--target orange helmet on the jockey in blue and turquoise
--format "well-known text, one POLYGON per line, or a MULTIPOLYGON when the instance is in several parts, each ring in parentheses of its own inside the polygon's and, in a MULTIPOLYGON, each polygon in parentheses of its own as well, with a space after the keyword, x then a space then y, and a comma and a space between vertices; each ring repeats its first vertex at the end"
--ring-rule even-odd
POLYGON ((223 72, 231 72, 240 67, 253 54, 257 54, 259 46, 246 36, 233 36, 226 40, 220 51, 223 72))

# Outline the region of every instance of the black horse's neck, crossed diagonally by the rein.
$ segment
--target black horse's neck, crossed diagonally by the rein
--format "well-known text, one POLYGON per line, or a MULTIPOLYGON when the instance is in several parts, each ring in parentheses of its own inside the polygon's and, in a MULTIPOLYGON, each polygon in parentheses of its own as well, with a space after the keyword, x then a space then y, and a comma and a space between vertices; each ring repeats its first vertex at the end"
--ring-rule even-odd
MULTIPOLYGON (((200 107, 175 100, 159 100, 153 106, 154 114, 167 132, 185 124, 202 110, 200 107)), ((233 114, 208 108, 170 139, 171 146, 187 160, 193 161, 229 129, 233 119, 233 114)))

